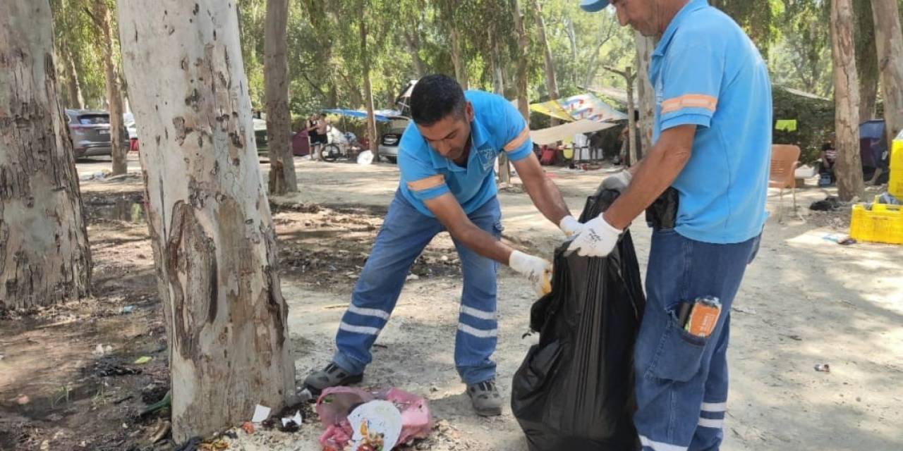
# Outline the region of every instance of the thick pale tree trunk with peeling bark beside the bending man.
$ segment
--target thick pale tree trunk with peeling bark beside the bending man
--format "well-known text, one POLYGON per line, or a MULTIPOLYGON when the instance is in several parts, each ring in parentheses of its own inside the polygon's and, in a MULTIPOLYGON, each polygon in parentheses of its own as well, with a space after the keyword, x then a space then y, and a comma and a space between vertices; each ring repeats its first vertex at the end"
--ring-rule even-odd
POLYGON ((287 306, 236 4, 119 0, 119 23, 183 442, 293 395, 287 306))

